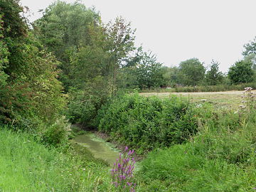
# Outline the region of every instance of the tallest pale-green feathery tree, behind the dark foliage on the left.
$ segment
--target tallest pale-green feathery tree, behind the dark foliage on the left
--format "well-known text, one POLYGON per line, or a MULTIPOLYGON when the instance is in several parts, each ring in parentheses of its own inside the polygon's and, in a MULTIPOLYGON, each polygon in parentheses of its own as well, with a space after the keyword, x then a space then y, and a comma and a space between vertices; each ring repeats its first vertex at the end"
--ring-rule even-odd
POLYGON ((74 4, 56 1, 33 23, 36 37, 60 61, 60 80, 66 91, 73 84, 70 77, 72 58, 80 47, 92 46, 93 30, 98 26, 99 13, 78 1, 74 4))

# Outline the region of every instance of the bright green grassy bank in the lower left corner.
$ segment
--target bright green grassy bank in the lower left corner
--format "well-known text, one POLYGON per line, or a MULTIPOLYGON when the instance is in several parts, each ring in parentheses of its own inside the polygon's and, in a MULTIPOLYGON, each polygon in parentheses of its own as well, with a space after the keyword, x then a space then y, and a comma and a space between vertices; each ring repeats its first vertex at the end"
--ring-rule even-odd
POLYGON ((114 191, 109 168, 86 149, 63 154, 7 127, 0 140, 0 191, 114 191))

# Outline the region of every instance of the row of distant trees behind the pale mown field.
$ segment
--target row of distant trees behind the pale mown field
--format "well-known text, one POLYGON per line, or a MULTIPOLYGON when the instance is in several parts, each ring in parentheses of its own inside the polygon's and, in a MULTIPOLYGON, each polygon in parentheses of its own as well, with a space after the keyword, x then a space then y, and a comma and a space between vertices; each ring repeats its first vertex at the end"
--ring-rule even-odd
POLYGON ((195 87, 213 85, 240 85, 255 82, 255 54, 245 55, 232 65, 228 73, 222 73, 219 65, 212 60, 207 67, 198 58, 191 58, 181 62, 178 67, 166 67, 160 63, 135 68, 122 68, 126 84, 120 87, 137 87, 140 90, 156 89, 159 87, 195 87))

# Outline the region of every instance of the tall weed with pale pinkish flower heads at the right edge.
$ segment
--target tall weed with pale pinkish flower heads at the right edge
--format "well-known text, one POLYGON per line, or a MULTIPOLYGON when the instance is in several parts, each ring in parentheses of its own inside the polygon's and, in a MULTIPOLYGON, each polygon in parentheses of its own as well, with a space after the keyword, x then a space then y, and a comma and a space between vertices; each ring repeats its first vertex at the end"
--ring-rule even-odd
POLYGON ((245 87, 242 92, 242 105, 239 106, 240 110, 251 110, 256 107, 256 92, 252 91, 252 87, 245 87))

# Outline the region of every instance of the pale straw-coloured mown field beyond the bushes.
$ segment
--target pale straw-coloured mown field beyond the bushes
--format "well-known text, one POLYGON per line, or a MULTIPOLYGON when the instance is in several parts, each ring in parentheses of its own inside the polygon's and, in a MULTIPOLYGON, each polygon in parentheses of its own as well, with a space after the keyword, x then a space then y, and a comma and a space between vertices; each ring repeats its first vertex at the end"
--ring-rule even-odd
POLYGON ((142 92, 139 95, 146 97, 157 96, 160 98, 169 97, 170 95, 178 95, 188 97, 191 102, 201 102, 206 100, 212 102, 217 107, 238 108, 242 101, 242 91, 226 91, 226 92, 142 92))

